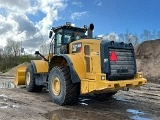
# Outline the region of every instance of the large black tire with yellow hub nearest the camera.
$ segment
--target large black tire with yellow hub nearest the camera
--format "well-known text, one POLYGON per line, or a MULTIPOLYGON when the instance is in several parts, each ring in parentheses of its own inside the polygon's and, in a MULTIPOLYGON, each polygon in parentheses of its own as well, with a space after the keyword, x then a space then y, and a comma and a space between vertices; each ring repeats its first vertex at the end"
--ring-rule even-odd
POLYGON ((69 67, 53 67, 48 80, 49 94, 53 102, 59 105, 69 105, 78 100, 80 84, 72 83, 69 67))

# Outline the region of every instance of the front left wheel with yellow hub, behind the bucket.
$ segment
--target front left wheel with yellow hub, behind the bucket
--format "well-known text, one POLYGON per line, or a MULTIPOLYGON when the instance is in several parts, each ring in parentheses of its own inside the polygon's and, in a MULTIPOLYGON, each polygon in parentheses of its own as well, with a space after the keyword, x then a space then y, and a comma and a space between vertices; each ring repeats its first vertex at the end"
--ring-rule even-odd
POLYGON ((43 86, 37 86, 35 83, 35 74, 31 63, 26 69, 25 85, 28 92, 40 92, 43 89, 43 86))

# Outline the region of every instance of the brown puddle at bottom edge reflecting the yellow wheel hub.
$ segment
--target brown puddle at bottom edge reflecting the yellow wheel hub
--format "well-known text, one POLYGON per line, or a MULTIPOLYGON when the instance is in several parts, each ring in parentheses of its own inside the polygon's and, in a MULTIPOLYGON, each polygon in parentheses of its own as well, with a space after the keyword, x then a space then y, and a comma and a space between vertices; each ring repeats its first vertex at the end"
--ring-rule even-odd
POLYGON ((55 110, 48 115, 49 120, 106 120, 106 117, 96 116, 93 113, 75 110, 55 110))

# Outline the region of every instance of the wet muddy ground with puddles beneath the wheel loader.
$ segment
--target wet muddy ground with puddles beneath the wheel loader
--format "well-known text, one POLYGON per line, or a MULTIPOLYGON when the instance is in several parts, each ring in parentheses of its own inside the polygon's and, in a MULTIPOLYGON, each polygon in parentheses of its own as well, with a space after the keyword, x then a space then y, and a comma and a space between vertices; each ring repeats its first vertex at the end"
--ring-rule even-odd
POLYGON ((160 85, 149 83, 119 91, 107 101, 85 95, 75 105, 59 106, 45 90, 29 93, 25 88, 1 88, 0 120, 160 120, 159 91, 160 85))

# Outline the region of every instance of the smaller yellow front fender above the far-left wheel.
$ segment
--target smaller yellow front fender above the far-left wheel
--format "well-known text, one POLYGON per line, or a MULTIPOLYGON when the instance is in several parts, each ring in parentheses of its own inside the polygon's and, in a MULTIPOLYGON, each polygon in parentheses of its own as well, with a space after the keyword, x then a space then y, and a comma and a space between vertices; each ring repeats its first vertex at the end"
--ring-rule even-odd
POLYGON ((48 62, 44 60, 31 60, 34 73, 48 73, 48 62))

